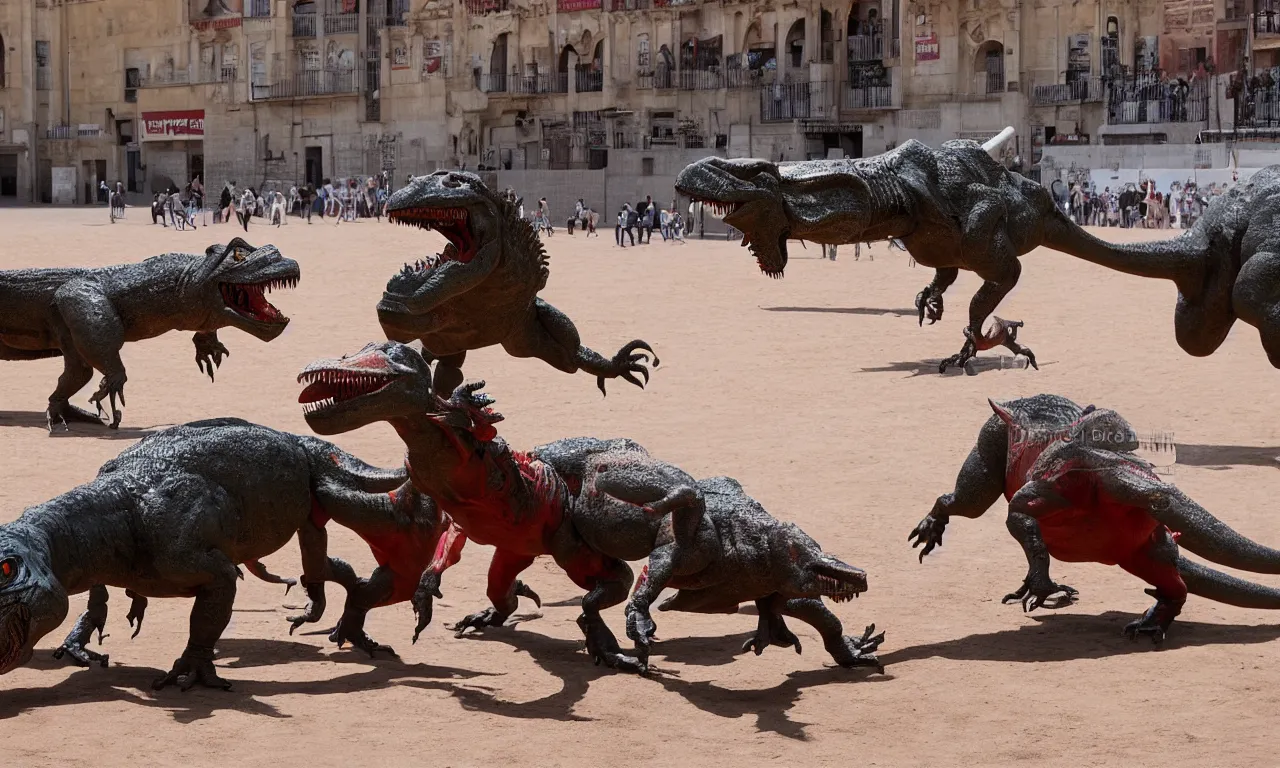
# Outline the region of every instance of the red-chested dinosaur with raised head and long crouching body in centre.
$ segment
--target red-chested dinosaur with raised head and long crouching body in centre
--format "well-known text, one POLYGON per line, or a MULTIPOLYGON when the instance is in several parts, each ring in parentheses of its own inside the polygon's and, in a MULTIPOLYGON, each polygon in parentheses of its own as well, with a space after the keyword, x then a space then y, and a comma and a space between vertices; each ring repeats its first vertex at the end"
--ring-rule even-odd
POLYGON ((782 622, 786 614, 818 627, 841 664, 879 666, 874 650, 883 636, 844 636, 820 602, 823 595, 846 599, 864 591, 865 575, 769 517, 735 481, 698 483, 631 440, 576 438, 515 452, 497 436, 493 425, 502 416, 479 393, 483 383, 460 387, 444 401, 434 393, 429 364, 396 342, 314 362, 301 379, 334 376, 355 384, 310 384, 300 397, 308 403, 307 424, 335 434, 389 421, 408 447, 415 485, 461 527, 442 539, 422 576, 413 598, 417 632, 431 620, 440 573, 470 538, 497 548, 489 567, 492 607, 458 622, 453 628, 460 634, 500 626, 520 595, 538 600, 517 576, 549 554, 588 590, 579 626, 596 663, 648 668, 655 631, 649 605, 669 585, 684 591, 667 609, 723 612, 760 603, 762 628, 748 644, 758 653, 769 643, 799 645, 782 622), (732 545, 722 544, 722 536, 732 545), (627 607, 632 657, 621 652, 600 612, 627 598, 632 575, 623 561, 643 557, 650 564, 627 607))

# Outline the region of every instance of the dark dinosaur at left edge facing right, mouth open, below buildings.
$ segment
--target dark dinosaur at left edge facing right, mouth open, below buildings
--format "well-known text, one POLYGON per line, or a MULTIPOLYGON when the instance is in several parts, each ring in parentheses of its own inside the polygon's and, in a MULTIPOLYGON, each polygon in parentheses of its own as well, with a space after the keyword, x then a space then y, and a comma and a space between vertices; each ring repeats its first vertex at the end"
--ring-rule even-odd
POLYGON ((270 342, 289 319, 265 293, 296 285, 298 264, 275 246, 255 248, 241 238, 210 246, 204 255, 165 253, 97 269, 23 269, 0 271, 0 360, 63 358, 63 375, 49 396, 49 430, 68 420, 101 424, 99 416, 70 404, 93 371, 102 381, 90 398, 102 413, 111 404, 111 428, 124 406, 125 342, 170 330, 193 330, 196 365, 214 378, 230 356, 218 329, 238 328, 270 342))

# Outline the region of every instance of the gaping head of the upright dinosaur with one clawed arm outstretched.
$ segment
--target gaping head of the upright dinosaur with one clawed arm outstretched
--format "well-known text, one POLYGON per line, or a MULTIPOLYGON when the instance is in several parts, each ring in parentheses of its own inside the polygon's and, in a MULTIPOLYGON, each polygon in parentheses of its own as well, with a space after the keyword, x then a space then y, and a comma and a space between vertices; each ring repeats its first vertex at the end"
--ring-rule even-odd
POLYGON ((468 264, 481 244, 502 242, 511 204, 494 195, 474 173, 438 170, 415 177, 387 202, 387 218, 397 224, 434 229, 448 243, 444 250, 406 265, 387 283, 378 317, 388 338, 410 340, 430 330, 433 317, 424 294, 434 285, 436 270, 452 262, 468 264))

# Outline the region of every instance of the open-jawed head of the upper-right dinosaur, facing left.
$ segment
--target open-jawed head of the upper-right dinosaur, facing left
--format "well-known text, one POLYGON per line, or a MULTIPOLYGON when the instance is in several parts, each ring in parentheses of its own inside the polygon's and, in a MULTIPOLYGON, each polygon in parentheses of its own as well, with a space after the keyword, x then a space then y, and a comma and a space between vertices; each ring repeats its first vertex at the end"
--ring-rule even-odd
POLYGON ((767 160, 704 157, 676 178, 676 191, 701 202, 724 223, 741 230, 742 244, 760 271, 781 278, 787 266, 791 221, 782 193, 782 174, 767 160))

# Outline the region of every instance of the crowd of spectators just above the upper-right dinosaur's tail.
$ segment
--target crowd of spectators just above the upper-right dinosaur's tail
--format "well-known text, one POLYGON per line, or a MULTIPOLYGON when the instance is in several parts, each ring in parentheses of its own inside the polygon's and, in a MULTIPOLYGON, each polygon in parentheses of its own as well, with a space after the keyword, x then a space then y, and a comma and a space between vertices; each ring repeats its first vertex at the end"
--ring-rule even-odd
MULTIPOLYGON (((1234 183, 1239 177, 1235 173, 1231 175, 1234 183)), ((1185 183, 1172 182, 1167 192, 1160 192, 1155 180, 1144 179, 1116 191, 1103 187, 1098 192, 1093 184, 1076 182, 1059 204, 1076 224, 1087 227, 1188 229, 1229 188, 1226 182, 1201 187, 1187 179, 1185 183)))

